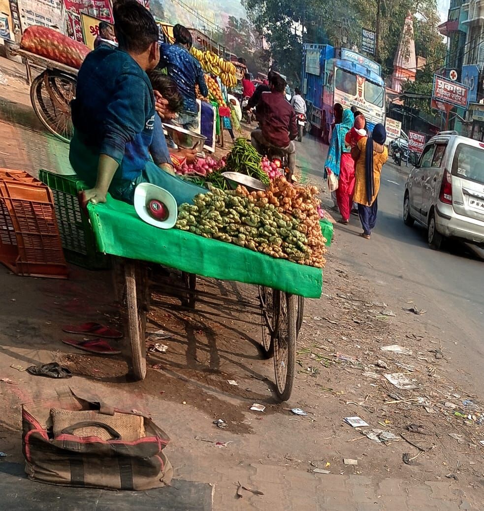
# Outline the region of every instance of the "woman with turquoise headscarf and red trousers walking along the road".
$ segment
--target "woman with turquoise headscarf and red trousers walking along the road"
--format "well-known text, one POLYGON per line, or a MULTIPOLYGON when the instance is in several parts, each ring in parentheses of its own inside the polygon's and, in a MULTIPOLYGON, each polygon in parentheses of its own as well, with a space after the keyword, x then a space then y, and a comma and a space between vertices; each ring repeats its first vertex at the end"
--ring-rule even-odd
POLYGON ((333 129, 328 157, 325 162, 325 178, 329 173, 333 173, 338 177, 336 203, 341 214, 340 223, 343 224, 350 222, 355 187, 355 164, 351 157, 350 146, 344 143, 346 135, 353 127, 353 122, 353 112, 344 110, 341 123, 336 124, 333 129))

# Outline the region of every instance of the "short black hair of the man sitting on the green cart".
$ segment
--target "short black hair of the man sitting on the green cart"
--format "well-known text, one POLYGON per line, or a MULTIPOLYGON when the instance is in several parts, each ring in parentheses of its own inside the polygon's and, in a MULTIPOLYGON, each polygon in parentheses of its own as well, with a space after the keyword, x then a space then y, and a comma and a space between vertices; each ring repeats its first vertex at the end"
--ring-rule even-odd
POLYGON ((114 31, 119 48, 136 54, 144 53, 158 42, 158 26, 150 14, 136 0, 117 2, 113 7, 114 31))

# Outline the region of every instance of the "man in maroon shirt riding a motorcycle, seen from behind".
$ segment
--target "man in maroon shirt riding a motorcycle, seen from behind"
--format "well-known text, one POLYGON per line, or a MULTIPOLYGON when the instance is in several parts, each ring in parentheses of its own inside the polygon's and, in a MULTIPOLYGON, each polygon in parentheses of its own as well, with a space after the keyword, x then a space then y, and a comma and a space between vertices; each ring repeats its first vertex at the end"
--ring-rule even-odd
POLYGON ((276 147, 287 153, 287 166, 294 173, 296 148, 292 142, 297 136, 296 114, 286 100, 286 80, 275 75, 270 83, 271 92, 263 92, 256 108, 261 129, 250 134, 252 146, 263 154, 264 148, 276 147))

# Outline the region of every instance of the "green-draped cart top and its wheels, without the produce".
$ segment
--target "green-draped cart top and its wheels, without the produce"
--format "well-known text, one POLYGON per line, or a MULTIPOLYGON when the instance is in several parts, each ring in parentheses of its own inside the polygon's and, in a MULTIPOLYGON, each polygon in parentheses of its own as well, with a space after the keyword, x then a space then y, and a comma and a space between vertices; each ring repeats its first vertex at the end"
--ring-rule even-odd
MULTIPOLYGON (((131 368, 137 379, 146 375, 145 326, 151 294, 143 261, 175 268, 188 275, 258 285, 263 347, 268 356, 274 355, 277 394, 282 401, 289 399, 303 297, 320 297, 320 268, 274 259, 179 229, 158 229, 143 222, 133 206, 110 196, 105 204, 88 204, 88 212, 98 250, 116 256, 113 271, 118 283, 118 299, 125 313, 131 368)), ((330 242, 332 225, 325 222, 321 228, 330 242)), ((195 278, 188 278, 188 284, 189 295, 195 295, 195 278)))

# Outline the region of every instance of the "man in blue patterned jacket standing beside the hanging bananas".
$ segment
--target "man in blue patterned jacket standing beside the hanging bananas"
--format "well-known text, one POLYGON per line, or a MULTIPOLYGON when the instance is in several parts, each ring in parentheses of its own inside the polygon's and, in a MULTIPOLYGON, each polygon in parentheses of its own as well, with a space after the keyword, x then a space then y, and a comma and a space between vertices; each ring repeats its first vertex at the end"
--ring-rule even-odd
POLYGON ((160 44, 158 67, 160 69, 167 68, 168 76, 175 80, 178 90, 183 96, 183 110, 173 120, 173 124, 193 131, 198 127, 195 85, 198 85, 202 96, 208 96, 209 89, 205 84, 200 62, 190 53, 193 44, 190 31, 182 25, 175 25, 173 37, 175 44, 160 44))

